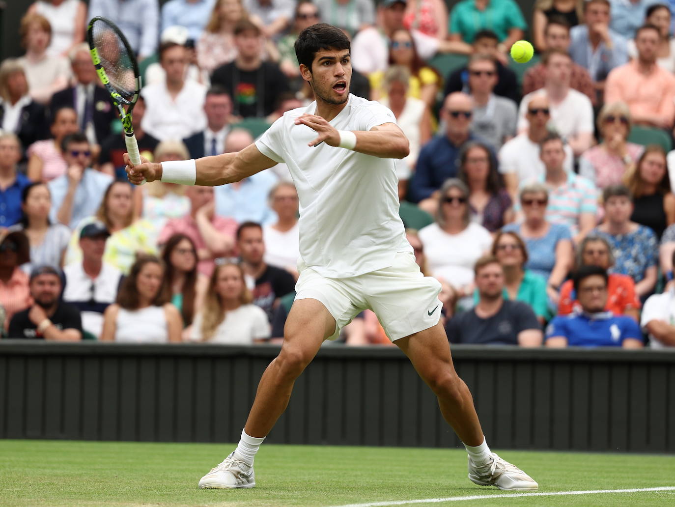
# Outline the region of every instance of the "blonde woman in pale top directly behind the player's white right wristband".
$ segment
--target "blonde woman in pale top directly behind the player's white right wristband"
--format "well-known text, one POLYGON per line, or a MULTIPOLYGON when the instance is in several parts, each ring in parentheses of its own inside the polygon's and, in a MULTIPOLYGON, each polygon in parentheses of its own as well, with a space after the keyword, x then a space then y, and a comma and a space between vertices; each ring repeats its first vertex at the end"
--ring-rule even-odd
MULTIPOLYGON (((190 153, 182 141, 162 141, 155 149, 155 162, 188 160, 190 153)), ((190 199, 185 196, 186 187, 160 181, 136 187, 134 199, 142 217, 162 230, 171 218, 182 218, 190 213, 190 199)))

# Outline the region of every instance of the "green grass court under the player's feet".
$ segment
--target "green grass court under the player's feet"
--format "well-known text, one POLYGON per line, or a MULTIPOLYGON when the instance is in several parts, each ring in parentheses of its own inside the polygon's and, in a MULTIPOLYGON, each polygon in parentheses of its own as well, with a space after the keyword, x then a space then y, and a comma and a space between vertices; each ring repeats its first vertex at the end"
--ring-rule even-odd
POLYGON ((464 450, 263 444, 253 489, 197 489, 234 444, 0 440, 2 507, 604 507, 675 505, 675 457, 496 452, 539 482, 499 491, 466 478, 464 450), (520 495, 509 498, 514 493, 520 495), (531 495, 531 493, 525 493, 531 495), (495 498, 462 499, 470 496, 495 498), (423 500, 429 500, 427 502, 423 500), (433 501, 431 501, 433 500, 433 501))

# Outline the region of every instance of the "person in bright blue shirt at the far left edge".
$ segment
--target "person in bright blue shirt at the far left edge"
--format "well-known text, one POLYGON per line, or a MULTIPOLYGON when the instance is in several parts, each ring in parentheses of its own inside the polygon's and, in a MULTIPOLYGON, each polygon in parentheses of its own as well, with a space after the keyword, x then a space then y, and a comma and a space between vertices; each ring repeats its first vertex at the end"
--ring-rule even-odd
POLYGON ((20 159, 19 138, 11 132, 0 134, 0 229, 21 219, 21 193, 30 180, 16 170, 20 159))

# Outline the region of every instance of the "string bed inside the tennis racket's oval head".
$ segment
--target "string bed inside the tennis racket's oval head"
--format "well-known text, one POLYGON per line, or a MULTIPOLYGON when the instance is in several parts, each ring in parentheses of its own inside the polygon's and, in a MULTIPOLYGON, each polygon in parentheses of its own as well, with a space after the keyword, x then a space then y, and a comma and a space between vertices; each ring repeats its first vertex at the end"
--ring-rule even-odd
POLYGON ((136 93, 136 76, 132 56, 107 23, 97 20, 92 26, 94 47, 110 85, 126 102, 130 102, 136 93))

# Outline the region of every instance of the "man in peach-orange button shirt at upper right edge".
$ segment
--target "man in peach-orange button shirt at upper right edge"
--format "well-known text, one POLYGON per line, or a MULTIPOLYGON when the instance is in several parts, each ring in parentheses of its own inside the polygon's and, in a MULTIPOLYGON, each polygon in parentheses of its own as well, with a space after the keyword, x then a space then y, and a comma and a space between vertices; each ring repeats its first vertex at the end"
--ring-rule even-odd
POLYGON ((656 63, 660 43, 655 26, 637 30, 637 58, 610 72, 605 103, 628 104, 634 124, 670 129, 675 119, 675 76, 656 63))

